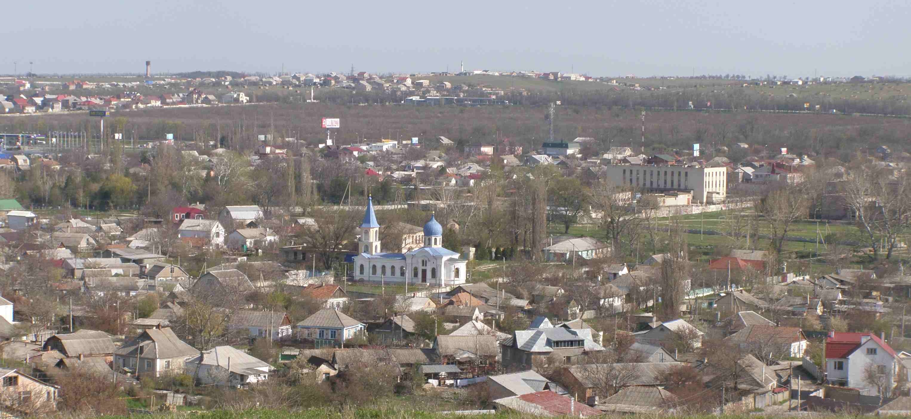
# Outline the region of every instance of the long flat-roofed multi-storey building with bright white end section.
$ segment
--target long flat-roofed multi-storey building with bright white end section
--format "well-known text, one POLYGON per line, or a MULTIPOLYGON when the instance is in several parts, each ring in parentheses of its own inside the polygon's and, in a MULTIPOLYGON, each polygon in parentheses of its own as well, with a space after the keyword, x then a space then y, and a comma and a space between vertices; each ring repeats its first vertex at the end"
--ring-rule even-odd
POLYGON ((608 165, 604 179, 618 186, 670 191, 689 190, 701 204, 724 200, 728 190, 728 169, 677 165, 608 165))

